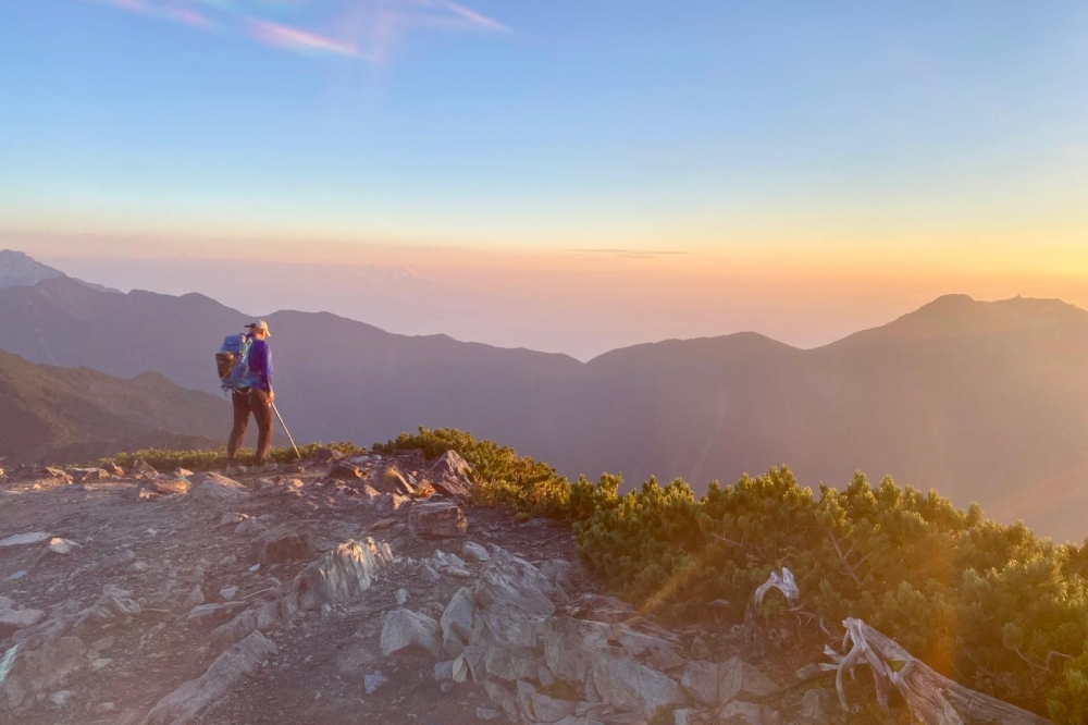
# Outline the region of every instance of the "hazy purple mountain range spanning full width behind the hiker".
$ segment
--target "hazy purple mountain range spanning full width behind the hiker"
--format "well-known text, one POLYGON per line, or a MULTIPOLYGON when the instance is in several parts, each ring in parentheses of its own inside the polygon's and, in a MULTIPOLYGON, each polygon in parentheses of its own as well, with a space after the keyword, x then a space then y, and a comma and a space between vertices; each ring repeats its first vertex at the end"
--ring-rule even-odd
MULTIPOLYGON (((201 295, 66 278, 0 290, 0 348, 209 392, 223 335, 251 319, 201 295)), ((1088 534, 1088 312, 1058 300, 952 295, 815 349, 742 333, 585 364, 329 314, 265 319, 297 439, 453 426, 568 475, 683 477, 696 491, 782 463, 813 487, 862 469, 1056 538, 1088 534)))

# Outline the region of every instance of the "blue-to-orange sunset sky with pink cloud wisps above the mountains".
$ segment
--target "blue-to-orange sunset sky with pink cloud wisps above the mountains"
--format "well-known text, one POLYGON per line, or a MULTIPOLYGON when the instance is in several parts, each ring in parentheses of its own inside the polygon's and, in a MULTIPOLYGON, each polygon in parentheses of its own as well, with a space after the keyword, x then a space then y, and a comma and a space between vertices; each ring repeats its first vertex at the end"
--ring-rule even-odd
POLYGON ((0 246, 119 285, 101 262, 256 258, 671 300, 602 317, 626 342, 817 344, 943 292, 1088 306, 1086 78, 1083 1, 16 0, 0 246))

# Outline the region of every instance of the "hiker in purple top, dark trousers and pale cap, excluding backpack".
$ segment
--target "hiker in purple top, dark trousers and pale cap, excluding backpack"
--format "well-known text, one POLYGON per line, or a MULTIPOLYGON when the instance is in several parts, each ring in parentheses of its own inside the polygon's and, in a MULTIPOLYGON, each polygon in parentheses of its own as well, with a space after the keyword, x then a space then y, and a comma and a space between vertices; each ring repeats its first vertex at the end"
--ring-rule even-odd
POLYGON ((244 385, 234 390, 231 402, 234 404, 234 429, 226 444, 227 470, 244 474, 247 470, 238 465, 238 448, 249 425, 249 414, 257 420, 257 453, 250 474, 270 474, 276 469, 274 463, 268 462, 272 448, 272 402, 275 392, 272 390, 272 349, 269 347, 269 325, 264 320, 250 322, 246 325, 246 337, 250 340, 248 366, 249 371, 244 385))

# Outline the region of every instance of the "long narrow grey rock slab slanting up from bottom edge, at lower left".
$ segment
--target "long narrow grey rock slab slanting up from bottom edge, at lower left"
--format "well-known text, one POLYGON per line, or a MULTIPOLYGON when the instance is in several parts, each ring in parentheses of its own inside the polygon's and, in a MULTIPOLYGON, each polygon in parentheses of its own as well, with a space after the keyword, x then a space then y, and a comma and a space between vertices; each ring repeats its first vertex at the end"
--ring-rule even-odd
POLYGON ((159 700, 140 725, 185 725, 212 702, 221 700, 235 683, 254 674, 276 647, 255 631, 212 663, 203 675, 159 700))

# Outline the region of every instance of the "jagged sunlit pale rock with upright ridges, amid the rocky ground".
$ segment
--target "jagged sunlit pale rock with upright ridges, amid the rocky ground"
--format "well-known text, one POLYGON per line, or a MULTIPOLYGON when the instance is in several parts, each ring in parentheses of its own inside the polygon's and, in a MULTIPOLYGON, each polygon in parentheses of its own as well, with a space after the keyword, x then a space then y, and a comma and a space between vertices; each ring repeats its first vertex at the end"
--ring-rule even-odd
POLYGON ((392 563, 393 552, 387 543, 378 544, 370 537, 362 542, 342 543, 295 577, 299 605, 304 610, 318 610, 322 604, 349 602, 370 589, 378 573, 392 563))

